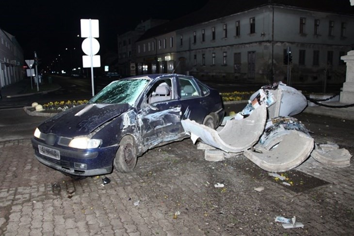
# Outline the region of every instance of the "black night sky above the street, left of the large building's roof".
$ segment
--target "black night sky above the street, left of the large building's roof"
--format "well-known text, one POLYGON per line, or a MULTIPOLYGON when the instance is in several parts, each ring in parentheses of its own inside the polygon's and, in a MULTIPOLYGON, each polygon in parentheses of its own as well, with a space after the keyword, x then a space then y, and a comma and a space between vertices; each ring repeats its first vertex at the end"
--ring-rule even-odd
MULTIPOLYGON (((203 7, 208 0, 6 0, 1 4, 0 29, 16 37, 25 59, 33 51, 44 64, 66 47, 79 48, 80 19, 99 20, 100 51, 117 52, 117 34, 133 30, 147 19, 175 19, 203 7), (124 5, 123 5, 124 3, 124 5)), ((83 52, 82 52, 83 55, 83 52)))

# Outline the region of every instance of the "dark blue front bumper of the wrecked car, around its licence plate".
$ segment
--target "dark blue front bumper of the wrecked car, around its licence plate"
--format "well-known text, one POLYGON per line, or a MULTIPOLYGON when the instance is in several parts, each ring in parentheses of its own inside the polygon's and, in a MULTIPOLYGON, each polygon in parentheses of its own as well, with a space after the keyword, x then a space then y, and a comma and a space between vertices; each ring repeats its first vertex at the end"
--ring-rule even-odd
POLYGON ((32 138, 34 156, 42 164, 57 171, 79 176, 95 176, 112 173, 113 159, 118 146, 96 148, 94 150, 68 150, 51 146, 32 138), (55 149, 60 152, 60 159, 47 157, 39 153, 38 145, 55 149), (77 168, 83 164, 85 168, 77 168))

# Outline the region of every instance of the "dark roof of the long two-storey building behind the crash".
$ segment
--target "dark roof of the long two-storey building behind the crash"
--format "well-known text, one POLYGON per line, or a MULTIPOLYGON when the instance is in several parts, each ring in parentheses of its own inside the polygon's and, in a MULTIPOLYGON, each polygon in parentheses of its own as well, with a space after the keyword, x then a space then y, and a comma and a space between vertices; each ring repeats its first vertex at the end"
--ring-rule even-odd
POLYGON ((354 15, 350 0, 209 0, 198 11, 151 28, 138 41, 269 4, 354 15))

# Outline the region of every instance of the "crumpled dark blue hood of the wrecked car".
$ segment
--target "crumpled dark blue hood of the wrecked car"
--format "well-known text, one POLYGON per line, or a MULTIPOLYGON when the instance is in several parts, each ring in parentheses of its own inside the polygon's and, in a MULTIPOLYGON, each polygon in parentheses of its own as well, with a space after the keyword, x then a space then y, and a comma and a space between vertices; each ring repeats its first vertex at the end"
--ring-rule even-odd
POLYGON ((49 118, 40 126, 43 133, 74 137, 87 135, 120 114, 133 109, 129 104, 83 104, 49 118))

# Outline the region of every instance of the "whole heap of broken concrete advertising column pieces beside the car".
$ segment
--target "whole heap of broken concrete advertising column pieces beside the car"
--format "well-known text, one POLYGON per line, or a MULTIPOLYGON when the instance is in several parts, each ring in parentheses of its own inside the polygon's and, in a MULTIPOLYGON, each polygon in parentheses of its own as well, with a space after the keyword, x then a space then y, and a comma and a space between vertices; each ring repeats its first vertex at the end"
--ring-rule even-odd
MULTIPOLYGON (((234 117, 225 117, 217 130, 200 125, 190 119, 182 121, 193 143, 198 139, 220 149, 206 150, 206 159, 222 160, 225 153, 234 156, 243 153, 260 168, 270 172, 284 172, 303 163, 311 153, 324 164, 332 163, 339 151, 315 150, 315 142, 306 127, 291 115, 302 112, 307 106, 306 97, 298 90, 281 82, 263 86, 251 95, 246 107, 234 117), (225 152, 223 154, 223 152, 225 152), (218 155, 219 154, 219 155, 218 155), (210 157, 207 157, 211 155, 210 157), (328 155, 327 155, 328 156, 328 155), (219 159, 218 159, 219 158, 219 159), (329 160, 330 159, 330 160, 329 160)), ((208 148, 209 149, 209 148, 208 148)), ((337 166, 350 163, 349 152, 340 150, 345 157, 338 158, 337 166)))

